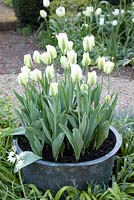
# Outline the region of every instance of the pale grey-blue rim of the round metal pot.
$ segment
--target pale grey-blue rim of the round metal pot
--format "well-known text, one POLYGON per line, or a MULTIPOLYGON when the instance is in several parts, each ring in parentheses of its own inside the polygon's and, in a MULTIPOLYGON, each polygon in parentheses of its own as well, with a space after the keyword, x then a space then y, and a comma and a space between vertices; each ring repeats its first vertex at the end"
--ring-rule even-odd
MULTIPOLYGON (((60 167, 81 167, 81 166, 87 166, 87 165, 89 166, 89 165, 102 163, 105 160, 113 157, 119 150, 121 143, 122 143, 122 137, 119 134, 119 132, 113 126, 110 126, 109 129, 114 133, 116 143, 115 143, 114 148, 108 154, 106 154, 100 158, 97 158, 95 160, 85 161, 85 162, 79 162, 79 163, 59 163, 59 162, 57 163, 57 162, 50 162, 50 161, 45 161, 45 160, 37 160, 35 163, 43 164, 43 165, 50 166, 50 167, 59 167, 59 166, 60 167)), ((22 152, 22 149, 18 145, 17 137, 15 137, 13 139, 13 145, 15 145, 17 147, 18 153, 22 152)))

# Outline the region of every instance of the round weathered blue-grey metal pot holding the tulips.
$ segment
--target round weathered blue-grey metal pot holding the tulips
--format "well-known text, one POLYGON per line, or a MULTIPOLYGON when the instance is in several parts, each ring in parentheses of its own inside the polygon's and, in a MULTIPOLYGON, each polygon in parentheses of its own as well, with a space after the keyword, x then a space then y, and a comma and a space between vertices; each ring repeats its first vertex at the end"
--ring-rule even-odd
MULTIPOLYGON (((115 142, 114 148, 105 156, 80 163, 55 163, 44 160, 36 161, 22 169, 24 182, 35 184, 40 190, 57 191, 65 185, 84 189, 87 184, 108 185, 112 174, 115 154, 122 142, 120 134, 110 126, 110 135, 115 142)), ((22 152, 17 138, 13 139, 17 152, 22 152)))

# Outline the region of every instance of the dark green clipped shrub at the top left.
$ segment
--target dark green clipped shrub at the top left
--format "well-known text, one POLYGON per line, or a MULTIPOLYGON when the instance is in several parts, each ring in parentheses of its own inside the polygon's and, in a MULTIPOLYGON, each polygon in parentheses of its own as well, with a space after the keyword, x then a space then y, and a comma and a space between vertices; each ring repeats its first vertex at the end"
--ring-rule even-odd
POLYGON ((18 20, 26 25, 38 25, 40 10, 44 9, 42 0, 13 0, 13 7, 18 20))

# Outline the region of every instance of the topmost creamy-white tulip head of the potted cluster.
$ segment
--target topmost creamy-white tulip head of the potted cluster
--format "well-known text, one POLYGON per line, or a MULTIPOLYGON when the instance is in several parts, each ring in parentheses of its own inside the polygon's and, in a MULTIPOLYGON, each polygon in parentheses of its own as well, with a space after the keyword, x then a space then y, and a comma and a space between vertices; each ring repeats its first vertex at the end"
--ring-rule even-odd
POLYGON ((59 48, 64 51, 65 49, 68 48, 68 37, 66 33, 59 33, 58 35, 56 35, 57 39, 58 39, 58 46, 59 48))

